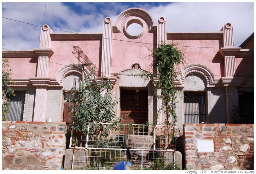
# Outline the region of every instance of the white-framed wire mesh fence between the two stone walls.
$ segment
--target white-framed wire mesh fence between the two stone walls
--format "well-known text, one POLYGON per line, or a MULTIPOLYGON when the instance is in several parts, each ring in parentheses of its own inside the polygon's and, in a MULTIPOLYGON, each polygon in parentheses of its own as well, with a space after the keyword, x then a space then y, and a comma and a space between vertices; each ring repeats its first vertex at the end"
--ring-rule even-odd
POLYGON ((87 124, 86 133, 72 131, 75 149, 72 169, 106 170, 125 159, 124 135, 128 136, 133 169, 152 169, 156 160, 174 162, 175 126, 87 124), (96 128, 95 128, 96 127, 96 128))

